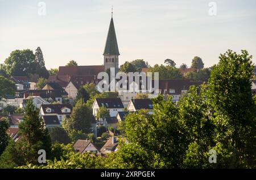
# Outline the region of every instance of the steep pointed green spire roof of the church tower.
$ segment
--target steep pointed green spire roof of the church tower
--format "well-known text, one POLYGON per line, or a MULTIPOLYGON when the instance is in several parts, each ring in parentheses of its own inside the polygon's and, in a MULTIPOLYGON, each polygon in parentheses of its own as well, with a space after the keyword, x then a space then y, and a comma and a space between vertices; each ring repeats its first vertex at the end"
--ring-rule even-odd
POLYGON ((111 18, 108 37, 106 39, 104 55, 120 55, 117 45, 117 37, 115 36, 115 27, 113 18, 111 18))

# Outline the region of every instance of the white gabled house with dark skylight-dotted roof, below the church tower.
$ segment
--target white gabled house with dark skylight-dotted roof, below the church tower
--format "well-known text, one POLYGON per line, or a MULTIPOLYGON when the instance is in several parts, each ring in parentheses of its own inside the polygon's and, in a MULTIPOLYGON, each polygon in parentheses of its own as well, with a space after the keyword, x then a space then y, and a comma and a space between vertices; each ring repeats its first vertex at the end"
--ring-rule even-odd
POLYGON ((109 110, 110 117, 115 117, 117 112, 123 111, 124 108, 120 98, 96 98, 92 106, 94 117, 97 115, 99 108, 103 106, 109 110))

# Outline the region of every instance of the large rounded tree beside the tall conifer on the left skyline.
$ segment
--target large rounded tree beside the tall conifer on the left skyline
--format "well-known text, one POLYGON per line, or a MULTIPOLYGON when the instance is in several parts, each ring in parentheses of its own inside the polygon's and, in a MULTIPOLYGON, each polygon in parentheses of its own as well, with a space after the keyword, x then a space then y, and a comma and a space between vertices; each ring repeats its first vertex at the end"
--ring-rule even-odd
POLYGON ((5 60, 6 72, 11 76, 28 76, 36 73, 36 61, 30 49, 11 52, 5 60))

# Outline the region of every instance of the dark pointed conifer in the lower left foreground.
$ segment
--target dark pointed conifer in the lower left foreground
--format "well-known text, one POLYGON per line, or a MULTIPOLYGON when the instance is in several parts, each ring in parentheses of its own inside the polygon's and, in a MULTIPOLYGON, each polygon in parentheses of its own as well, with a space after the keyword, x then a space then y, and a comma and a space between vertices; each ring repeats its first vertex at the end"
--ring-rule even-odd
POLYGON ((25 162, 36 164, 39 149, 46 150, 47 157, 51 156, 51 136, 32 99, 27 101, 23 122, 19 123, 19 135, 17 145, 25 162))

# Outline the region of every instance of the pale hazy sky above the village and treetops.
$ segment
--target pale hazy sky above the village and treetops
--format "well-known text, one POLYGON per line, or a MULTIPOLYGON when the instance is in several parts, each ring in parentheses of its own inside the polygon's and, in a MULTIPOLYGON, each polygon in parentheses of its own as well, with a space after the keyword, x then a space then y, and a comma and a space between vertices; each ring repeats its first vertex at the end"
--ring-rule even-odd
POLYGON ((206 0, 45 0, 46 16, 38 14, 39 2, 0 0, 0 64, 15 49, 37 47, 47 68, 69 60, 103 64, 112 5, 119 64, 137 58, 163 64, 171 58, 177 66, 190 66, 200 56, 211 66, 228 49, 247 49, 256 57, 255 0, 213 1, 216 16, 209 15, 212 1, 206 0))

